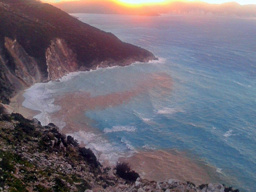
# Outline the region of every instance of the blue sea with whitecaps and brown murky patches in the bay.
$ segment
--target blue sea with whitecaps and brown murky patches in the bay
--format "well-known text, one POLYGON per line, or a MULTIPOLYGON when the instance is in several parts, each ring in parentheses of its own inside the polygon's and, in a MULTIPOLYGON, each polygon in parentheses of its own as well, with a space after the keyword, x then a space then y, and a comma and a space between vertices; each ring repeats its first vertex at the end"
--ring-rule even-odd
POLYGON ((130 161, 145 177, 143 164, 162 161, 148 175, 202 168, 208 182, 256 191, 255 18, 72 15, 158 60, 37 83, 23 94, 25 107, 41 111, 35 118, 66 129, 103 164, 146 154, 130 161))

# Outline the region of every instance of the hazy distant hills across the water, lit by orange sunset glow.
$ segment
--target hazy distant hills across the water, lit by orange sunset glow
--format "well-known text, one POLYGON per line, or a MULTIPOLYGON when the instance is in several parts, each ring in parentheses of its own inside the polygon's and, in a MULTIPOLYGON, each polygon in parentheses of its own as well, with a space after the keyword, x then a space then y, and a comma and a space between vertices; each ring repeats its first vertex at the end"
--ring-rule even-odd
POLYGON ((159 16, 175 15, 222 15, 256 17, 256 5, 240 5, 236 2, 210 4, 201 1, 165 1, 148 4, 122 4, 115 0, 75 0, 52 3, 67 13, 101 13, 123 15, 159 16))

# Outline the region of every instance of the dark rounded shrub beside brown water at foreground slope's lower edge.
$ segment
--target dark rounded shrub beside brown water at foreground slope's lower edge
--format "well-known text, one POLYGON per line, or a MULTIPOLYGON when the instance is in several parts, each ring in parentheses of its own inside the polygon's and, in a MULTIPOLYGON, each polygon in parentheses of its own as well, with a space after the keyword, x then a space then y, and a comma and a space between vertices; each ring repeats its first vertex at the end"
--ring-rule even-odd
POLYGON ((119 177, 128 181, 134 182, 139 177, 139 174, 131 170, 130 164, 126 162, 118 162, 115 169, 117 170, 117 175, 119 175, 119 177))

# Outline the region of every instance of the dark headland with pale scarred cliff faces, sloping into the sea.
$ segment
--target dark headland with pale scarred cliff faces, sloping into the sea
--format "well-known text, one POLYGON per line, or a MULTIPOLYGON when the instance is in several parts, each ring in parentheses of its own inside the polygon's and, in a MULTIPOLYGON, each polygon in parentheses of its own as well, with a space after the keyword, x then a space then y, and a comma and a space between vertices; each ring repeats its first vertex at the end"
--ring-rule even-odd
POLYGON ((0 0, 0 102, 37 82, 97 66, 156 59, 36 0, 0 0))

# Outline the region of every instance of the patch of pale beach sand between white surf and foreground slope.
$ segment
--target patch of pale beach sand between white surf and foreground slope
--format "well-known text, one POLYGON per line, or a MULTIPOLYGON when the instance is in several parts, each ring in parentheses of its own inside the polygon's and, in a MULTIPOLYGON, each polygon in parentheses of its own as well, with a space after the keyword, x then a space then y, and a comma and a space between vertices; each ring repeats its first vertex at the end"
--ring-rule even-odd
POLYGON ((13 113, 19 113, 23 115, 23 117, 27 119, 33 119, 34 116, 40 114, 40 111, 28 109, 22 105, 25 98, 23 97, 23 93, 25 90, 17 93, 13 98, 10 99, 10 106, 13 108, 13 113))

